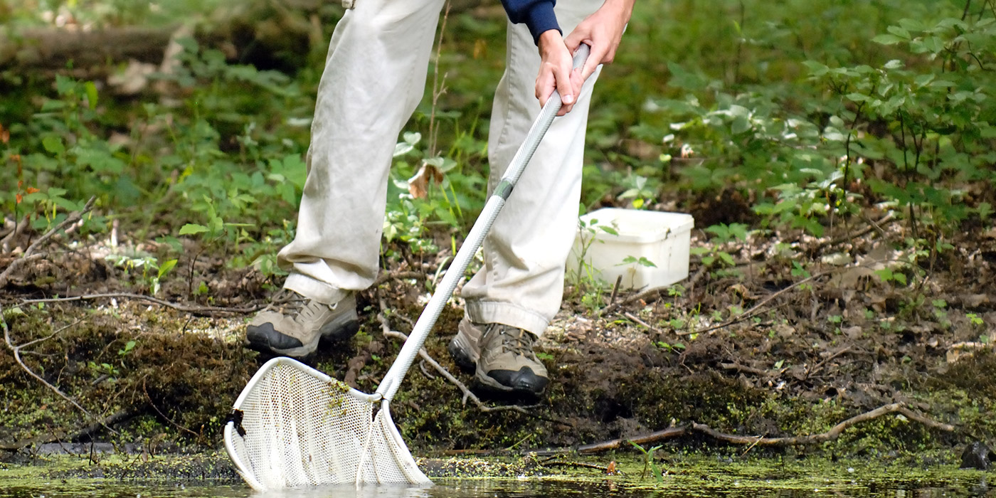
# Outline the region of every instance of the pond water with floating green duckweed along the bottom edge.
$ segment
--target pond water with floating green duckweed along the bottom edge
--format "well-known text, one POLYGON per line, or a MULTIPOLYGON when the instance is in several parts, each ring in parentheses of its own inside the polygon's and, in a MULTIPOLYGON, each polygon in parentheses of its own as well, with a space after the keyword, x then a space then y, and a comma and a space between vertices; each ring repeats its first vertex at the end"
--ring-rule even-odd
MULTIPOLYGON (((665 455, 654 460, 663 472, 656 478, 652 472, 642 472, 641 459, 615 456, 620 457, 618 461, 610 455, 557 460, 590 466, 617 461, 615 475, 579 465, 542 465, 542 459, 535 455, 422 459, 422 468, 436 484, 432 488, 368 486, 370 489, 361 492, 352 488, 312 488, 275 496, 996 496, 996 490, 989 489, 991 472, 960 470, 953 465, 922 468, 899 461, 665 455)), ((147 459, 110 456, 99 464, 76 456, 52 456, 30 465, 0 467, 2 498, 241 497, 251 493, 230 471, 224 454, 147 459)))

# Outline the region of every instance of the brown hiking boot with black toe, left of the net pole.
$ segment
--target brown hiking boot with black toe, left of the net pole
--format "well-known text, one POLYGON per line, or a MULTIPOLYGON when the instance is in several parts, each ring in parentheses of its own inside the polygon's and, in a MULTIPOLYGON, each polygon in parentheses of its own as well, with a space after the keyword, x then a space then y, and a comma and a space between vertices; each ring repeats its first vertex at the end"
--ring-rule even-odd
POLYGON ((249 347, 277 355, 304 358, 318 349, 320 339, 342 341, 360 328, 357 298, 326 305, 284 289, 246 327, 249 347))

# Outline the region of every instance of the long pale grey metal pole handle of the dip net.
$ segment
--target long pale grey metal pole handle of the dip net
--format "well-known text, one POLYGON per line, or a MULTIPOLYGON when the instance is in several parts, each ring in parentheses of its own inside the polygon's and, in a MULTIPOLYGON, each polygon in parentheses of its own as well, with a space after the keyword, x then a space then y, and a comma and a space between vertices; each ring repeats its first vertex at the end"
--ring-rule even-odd
MULTIPOLYGON (((590 52, 591 48, 586 44, 581 44, 578 47, 578 50, 574 54, 574 69, 584 67, 590 52)), ((550 124, 553 123, 554 118, 557 117, 561 106, 560 94, 555 90, 546 105, 543 106, 536 121, 533 122, 529 133, 526 134, 522 145, 519 146, 519 150, 512 157, 512 162, 509 164, 508 169, 505 170, 505 175, 502 176, 491 197, 488 198, 484 209, 481 211, 480 216, 477 217, 477 221, 474 222, 474 226, 470 229, 470 233, 467 234, 463 245, 456 252, 453 263, 446 270, 446 275, 443 276, 442 281, 436 287, 435 294, 429 299, 428 304, 425 305, 425 310, 422 311, 422 314, 418 317, 418 321, 415 322, 415 327, 411 330, 408 340, 404 342, 404 346, 401 347, 401 351, 397 354, 397 359, 394 360, 393 365, 390 366, 390 370, 387 371, 383 380, 380 381, 376 392, 382 395, 384 399, 389 400, 394 397, 394 393, 397 392, 401 380, 404 378, 405 373, 408 373, 411 363, 414 362, 415 357, 418 355, 418 350, 425 343, 429 332, 432 331, 432 326, 435 325, 439 314, 442 313, 443 307, 453 295, 453 291, 456 290, 456 285, 463 278, 464 272, 467 271, 467 266, 473 259, 474 254, 477 253, 477 249, 484 242, 484 237, 491 229, 491 224, 498 217, 498 212, 505 205, 505 200, 512 193, 512 188, 515 187, 516 182, 519 181, 519 177, 522 176, 522 171, 533 157, 536 147, 540 145, 540 140, 543 139, 543 135, 550 128, 550 124)))

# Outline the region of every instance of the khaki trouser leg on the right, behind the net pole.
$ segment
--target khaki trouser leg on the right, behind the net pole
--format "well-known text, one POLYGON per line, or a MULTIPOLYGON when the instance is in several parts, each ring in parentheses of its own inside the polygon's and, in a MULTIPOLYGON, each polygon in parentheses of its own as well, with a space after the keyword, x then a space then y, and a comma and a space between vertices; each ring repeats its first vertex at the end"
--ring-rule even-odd
MULTIPOLYGON (((558 2, 565 36, 601 6, 602 0, 558 2)), ((491 115, 489 189, 539 115, 539 67, 529 30, 509 24, 506 70, 491 115)), ((461 292, 471 321, 502 323, 539 336, 560 309, 564 267, 578 226, 588 109, 600 72, 585 82, 571 113, 554 120, 485 239, 484 266, 461 292)))

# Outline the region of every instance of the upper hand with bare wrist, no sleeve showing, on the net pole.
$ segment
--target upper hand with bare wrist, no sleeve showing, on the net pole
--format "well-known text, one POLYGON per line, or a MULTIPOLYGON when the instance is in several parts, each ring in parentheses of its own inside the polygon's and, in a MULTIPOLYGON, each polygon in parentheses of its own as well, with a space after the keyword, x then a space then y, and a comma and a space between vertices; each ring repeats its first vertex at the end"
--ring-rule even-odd
POLYGON ((581 83, 595 73, 600 64, 610 64, 616 58, 616 49, 622 40, 622 31, 632 14, 633 0, 606 0, 599 10, 588 16, 570 35, 564 44, 573 54, 582 44, 588 44, 592 53, 578 78, 581 83))

